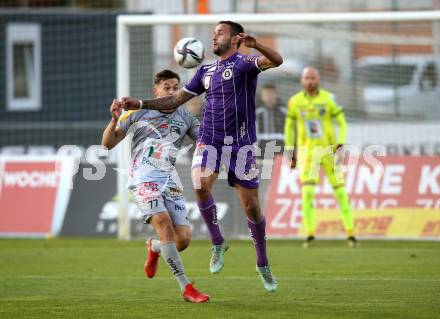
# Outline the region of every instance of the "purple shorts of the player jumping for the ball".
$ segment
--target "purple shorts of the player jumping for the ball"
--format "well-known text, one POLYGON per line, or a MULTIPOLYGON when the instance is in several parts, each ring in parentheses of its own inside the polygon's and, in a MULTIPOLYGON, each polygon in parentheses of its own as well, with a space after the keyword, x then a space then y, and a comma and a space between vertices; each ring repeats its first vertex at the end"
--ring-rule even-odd
POLYGON ((192 168, 207 167, 218 173, 221 166, 228 172, 229 186, 239 184, 244 188, 258 188, 260 182, 252 145, 237 148, 197 143, 192 168))

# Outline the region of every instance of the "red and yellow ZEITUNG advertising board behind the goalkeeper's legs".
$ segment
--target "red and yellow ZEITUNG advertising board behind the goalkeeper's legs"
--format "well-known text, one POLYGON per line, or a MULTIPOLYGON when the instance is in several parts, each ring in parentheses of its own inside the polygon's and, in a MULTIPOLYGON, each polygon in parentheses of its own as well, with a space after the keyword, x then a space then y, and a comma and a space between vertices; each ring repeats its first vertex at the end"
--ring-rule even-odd
MULTIPOLYGON (((375 166, 363 160, 347 166, 346 189, 352 202, 357 233, 377 237, 390 232, 398 237, 411 237, 417 233, 420 237, 424 234, 436 237, 440 223, 440 158, 388 156, 377 159, 380 164, 375 166), (418 215, 408 217, 403 211, 417 212, 418 215), (425 212, 430 213, 429 218, 423 215, 425 212), (418 217, 427 219, 423 225, 417 226, 420 229, 414 230, 411 227, 416 227, 415 223, 410 221, 418 217), (403 225, 405 223, 411 225, 403 225)), ((272 176, 265 207, 268 235, 302 235, 298 171, 282 164, 282 158, 278 157, 272 176)), ((338 207, 333 190, 324 177, 316 187, 315 205, 317 234, 343 234, 340 218, 326 215, 338 207)))

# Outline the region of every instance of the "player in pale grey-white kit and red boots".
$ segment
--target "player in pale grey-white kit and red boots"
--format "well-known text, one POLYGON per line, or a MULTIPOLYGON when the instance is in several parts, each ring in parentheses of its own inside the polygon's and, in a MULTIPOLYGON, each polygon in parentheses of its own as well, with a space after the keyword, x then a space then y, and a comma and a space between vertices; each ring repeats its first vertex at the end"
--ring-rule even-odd
MULTIPOLYGON (((156 97, 170 96, 179 89, 180 78, 170 70, 155 75, 156 97)), ((131 138, 129 190, 159 239, 147 241, 144 271, 148 278, 157 272, 162 255, 177 280, 185 300, 201 303, 209 296, 198 291, 185 275, 179 251, 188 247, 191 228, 183 189, 174 164, 183 139, 197 139, 200 123, 185 108, 133 110, 122 114, 122 103, 114 100, 112 116, 101 144, 113 148, 125 137, 131 138)))

